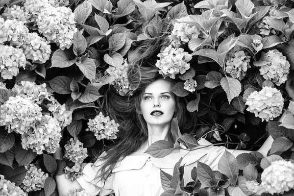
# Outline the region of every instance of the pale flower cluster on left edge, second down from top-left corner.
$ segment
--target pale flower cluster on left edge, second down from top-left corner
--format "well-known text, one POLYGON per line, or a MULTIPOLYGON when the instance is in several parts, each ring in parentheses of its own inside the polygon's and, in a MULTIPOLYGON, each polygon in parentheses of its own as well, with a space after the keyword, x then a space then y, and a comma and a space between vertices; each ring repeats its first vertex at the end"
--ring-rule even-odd
POLYGON ((23 22, 0 18, 0 43, 9 42, 10 46, 20 47, 24 44, 28 28, 23 22))

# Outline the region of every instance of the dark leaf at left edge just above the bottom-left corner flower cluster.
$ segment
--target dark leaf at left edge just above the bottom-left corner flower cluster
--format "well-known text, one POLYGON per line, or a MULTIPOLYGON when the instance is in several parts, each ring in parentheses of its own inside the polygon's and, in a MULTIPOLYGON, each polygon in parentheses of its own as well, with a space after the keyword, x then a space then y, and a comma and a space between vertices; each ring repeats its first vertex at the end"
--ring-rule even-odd
POLYGON ((24 166, 19 166, 15 168, 7 166, 0 167, 0 173, 5 176, 5 179, 14 182, 16 186, 20 186, 23 183, 26 172, 27 170, 24 166))

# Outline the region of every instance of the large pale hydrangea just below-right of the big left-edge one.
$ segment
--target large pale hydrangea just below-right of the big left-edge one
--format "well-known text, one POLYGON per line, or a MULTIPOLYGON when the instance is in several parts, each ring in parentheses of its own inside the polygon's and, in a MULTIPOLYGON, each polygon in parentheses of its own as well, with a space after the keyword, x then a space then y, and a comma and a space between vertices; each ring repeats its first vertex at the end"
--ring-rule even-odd
POLYGON ((61 137, 58 121, 44 115, 42 121, 36 124, 34 129, 30 129, 22 135, 22 146, 24 149, 32 149, 37 154, 42 154, 43 150, 54 153, 59 147, 61 137))

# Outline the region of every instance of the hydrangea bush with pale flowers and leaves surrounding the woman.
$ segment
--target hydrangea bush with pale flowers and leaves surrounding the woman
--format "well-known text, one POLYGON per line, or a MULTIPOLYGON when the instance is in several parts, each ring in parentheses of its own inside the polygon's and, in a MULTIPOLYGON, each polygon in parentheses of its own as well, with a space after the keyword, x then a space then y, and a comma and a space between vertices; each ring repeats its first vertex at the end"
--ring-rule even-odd
POLYGON ((171 146, 205 138, 252 151, 225 152, 219 172, 199 162, 193 182, 175 167, 167 177, 179 180, 163 183, 164 195, 294 195, 294 102, 285 90, 294 81, 294 2, 141 1, 0 2, 0 195, 56 196, 55 175, 74 180, 119 140, 104 95, 132 96, 133 51, 158 36, 154 69, 176 81, 172 92, 197 118, 196 131, 173 134, 171 146), (269 134, 263 157, 254 150, 269 134))

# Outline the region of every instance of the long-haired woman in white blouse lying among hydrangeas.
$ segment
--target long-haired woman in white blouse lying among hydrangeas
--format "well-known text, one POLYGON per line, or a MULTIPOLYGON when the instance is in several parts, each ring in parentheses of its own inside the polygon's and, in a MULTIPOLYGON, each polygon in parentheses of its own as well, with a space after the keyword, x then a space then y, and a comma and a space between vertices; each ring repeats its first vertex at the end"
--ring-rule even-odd
MULTIPOLYGON (((110 111, 118 113, 114 119, 122 123, 126 135, 116 147, 103 153, 94 164, 87 164, 83 174, 75 181, 66 179, 65 174, 56 176, 60 196, 66 196, 70 189, 82 188, 93 196, 106 196, 111 193, 116 196, 159 196, 163 193, 160 170, 172 173, 174 165, 181 157, 184 157, 182 165, 185 164, 186 183, 192 181, 191 170, 196 166, 196 161, 218 170, 218 162, 225 147, 210 146, 191 152, 175 150, 160 159, 145 153, 147 148, 158 140, 172 140, 172 118, 178 117, 180 129, 187 129, 193 125, 193 116, 189 118, 189 113, 185 112, 185 101, 172 93, 175 81, 164 79, 156 68, 132 69, 129 71, 129 78, 130 83, 136 86, 136 91, 129 98, 129 104, 124 102, 125 110, 117 106, 119 101, 115 98, 111 101, 113 104, 106 106, 110 111), (125 112, 131 116, 123 120, 125 112)), ((204 139, 198 143, 203 146, 210 145, 204 139)), ((271 143, 270 137, 258 151, 266 156, 271 143)), ((228 151, 235 156, 248 152, 228 151)), ((55 155, 55 158, 60 157, 55 155)))

